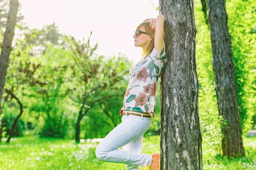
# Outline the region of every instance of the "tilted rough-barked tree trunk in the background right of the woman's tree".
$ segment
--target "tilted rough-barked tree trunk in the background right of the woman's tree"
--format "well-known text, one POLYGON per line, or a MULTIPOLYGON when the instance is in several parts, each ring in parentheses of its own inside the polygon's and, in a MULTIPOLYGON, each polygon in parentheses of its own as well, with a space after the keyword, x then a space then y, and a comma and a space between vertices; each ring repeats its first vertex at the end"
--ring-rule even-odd
POLYGON ((236 96, 235 66, 232 59, 231 40, 227 28, 226 1, 208 0, 208 20, 212 42, 212 65, 215 76, 219 115, 223 133, 223 155, 244 156, 241 122, 236 96), (226 122, 227 121, 227 122, 226 122))

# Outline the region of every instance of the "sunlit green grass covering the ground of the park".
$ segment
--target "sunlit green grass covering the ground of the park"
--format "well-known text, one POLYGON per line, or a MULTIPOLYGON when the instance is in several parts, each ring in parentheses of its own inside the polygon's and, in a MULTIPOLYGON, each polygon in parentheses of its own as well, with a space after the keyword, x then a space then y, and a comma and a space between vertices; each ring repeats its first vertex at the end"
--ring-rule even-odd
MULTIPOLYGON (((3 141, 6 141, 4 138, 3 141)), ((160 151, 160 136, 144 138, 143 153, 160 151)), ((256 136, 243 139, 245 157, 221 159, 203 144, 204 170, 255 170, 256 136)), ((126 170, 125 164, 96 159, 99 142, 76 144, 74 140, 41 138, 36 136, 12 138, 10 144, 0 145, 0 170, 126 170)), ((149 170, 148 167, 142 167, 149 170)))

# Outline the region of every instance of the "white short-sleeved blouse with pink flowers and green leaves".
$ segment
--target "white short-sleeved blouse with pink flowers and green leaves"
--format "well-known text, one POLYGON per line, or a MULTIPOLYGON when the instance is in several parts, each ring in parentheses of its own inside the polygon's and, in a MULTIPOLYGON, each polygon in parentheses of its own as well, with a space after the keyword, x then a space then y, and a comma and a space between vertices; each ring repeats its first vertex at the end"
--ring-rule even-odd
POLYGON ((120 111, 148 112, 155 114, 157 80, 166 67, 165 46, 158 52, 154 47, 148 56, 141 59, 131 71, 131 78, 120 111))

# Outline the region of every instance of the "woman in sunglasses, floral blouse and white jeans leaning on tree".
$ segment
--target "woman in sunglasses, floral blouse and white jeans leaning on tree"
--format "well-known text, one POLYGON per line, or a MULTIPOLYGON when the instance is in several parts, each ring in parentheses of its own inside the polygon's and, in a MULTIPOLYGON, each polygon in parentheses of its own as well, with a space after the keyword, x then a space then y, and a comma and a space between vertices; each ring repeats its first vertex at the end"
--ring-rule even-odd
POLYGON ((134 45, 143 48, 143 57, 131 71, 120 111, 122 123, 108 133, 95 151, 99 160, 126 164, 127 170, 141 170, 146 166, 159 170, 160 153, 141 152, 143 134, 155 114, 157 80, 167 62, 163 23, 164 16, 159 14, 156 19, 146 19, 137 27, 134 45))

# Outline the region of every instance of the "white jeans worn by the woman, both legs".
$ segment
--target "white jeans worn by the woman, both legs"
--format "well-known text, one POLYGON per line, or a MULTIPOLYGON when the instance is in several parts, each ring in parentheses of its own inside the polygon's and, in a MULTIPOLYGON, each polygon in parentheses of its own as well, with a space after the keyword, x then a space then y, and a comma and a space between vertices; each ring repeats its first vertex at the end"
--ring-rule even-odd
POLYGON ((141 152, 143 134, 150 125, 151 117, 122 115, 122 122, 96 147, 96 157, 106 162, 126 164, 127 170, 141 170, 141 166, 149 166, 152 162, 151 154, 141 152))

